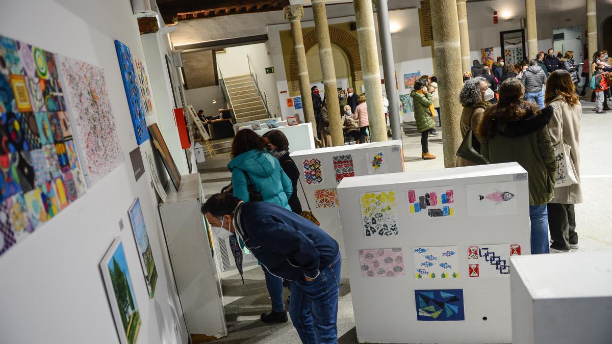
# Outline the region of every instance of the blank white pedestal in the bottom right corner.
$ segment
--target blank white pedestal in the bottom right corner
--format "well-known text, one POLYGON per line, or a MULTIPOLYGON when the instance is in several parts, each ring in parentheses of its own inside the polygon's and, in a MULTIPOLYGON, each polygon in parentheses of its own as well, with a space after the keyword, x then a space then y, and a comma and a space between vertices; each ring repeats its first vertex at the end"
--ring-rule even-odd
POLYGON ((513 343, 612 342, 612 252, 511 261, 513 343))

